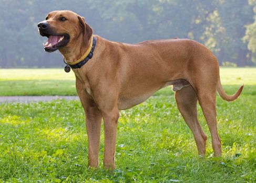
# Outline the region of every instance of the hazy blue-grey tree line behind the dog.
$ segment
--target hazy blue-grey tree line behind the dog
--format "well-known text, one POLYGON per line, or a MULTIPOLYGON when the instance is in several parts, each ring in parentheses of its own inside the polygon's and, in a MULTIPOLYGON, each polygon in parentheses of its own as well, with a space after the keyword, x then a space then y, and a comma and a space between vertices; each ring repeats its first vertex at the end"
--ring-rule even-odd
POLYGON ((0 67, 60 67, 45 53, 37 24, 52 10, 84 16, 94 33, 112 41, 190 38, 220 64, 256 64, 256 0, 0 0, 0 67))

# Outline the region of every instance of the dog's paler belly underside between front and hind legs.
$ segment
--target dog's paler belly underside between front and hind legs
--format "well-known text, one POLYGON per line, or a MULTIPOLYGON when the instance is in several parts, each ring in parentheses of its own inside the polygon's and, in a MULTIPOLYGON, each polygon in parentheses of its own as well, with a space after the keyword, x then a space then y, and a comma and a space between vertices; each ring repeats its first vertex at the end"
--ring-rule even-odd
POLYGON ((164 85, 161 85, 161 87, 157 89, 152 89, 148 92, 142 93, 142 94, 135 94, 135 95, 130 95, 130 96, 119 96, 118 98, 118 109, 119 110, 125 110, 129 109, 131 107, 134 107, 141 102, 144 102, 147 100, 150 96, 152 96, 157 90, 172 85, 172 90, 173 91, 178 91, 182 89, 183 87, 189 86, 190 83, 185 80, 185 79, 177 79, 175 81, 169 81, 166 82, 164 85))

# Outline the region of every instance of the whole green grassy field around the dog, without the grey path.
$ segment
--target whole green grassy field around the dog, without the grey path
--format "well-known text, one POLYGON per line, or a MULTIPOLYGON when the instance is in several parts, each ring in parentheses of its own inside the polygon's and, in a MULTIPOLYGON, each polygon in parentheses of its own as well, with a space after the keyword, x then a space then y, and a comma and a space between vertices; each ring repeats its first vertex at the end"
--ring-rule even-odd
MULTIPOLYGON (((60 69, 0 70, 0 95, 75 95, 74 74, 60 69)), ((0 104, 0 182, 255 182, 256 68, 221 68, 228 94, 244 83, 234 102, 217 97, 223 156, 198 158, 171 88, 121 111, 114 171, 87 168, 87 135, 79 101, 0 104)))

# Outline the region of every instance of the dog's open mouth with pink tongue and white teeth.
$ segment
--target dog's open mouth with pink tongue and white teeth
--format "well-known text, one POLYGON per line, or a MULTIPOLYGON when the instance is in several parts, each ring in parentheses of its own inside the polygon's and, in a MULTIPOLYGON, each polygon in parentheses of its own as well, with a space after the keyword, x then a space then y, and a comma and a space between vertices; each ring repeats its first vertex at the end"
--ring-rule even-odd
POLYGON ((61 47, 64 47, 69 42, 68 35, 45 35, 48 37, 46 43, 43 43, 44 49, 47 52, 53 52, 61 47))

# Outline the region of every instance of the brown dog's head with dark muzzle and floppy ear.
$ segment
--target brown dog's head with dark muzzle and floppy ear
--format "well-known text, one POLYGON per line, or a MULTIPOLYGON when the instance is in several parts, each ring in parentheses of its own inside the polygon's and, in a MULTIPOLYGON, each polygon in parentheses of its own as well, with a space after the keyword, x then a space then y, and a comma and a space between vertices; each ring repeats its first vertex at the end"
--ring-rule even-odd
POLYGON ((84 17, 68 10, 50 12, 37 26, 39 34, 48 38, 44 44, 47 52, 72 46, 77 39, 88 44, 93 35, 93 29, 86 24, 84 17))

